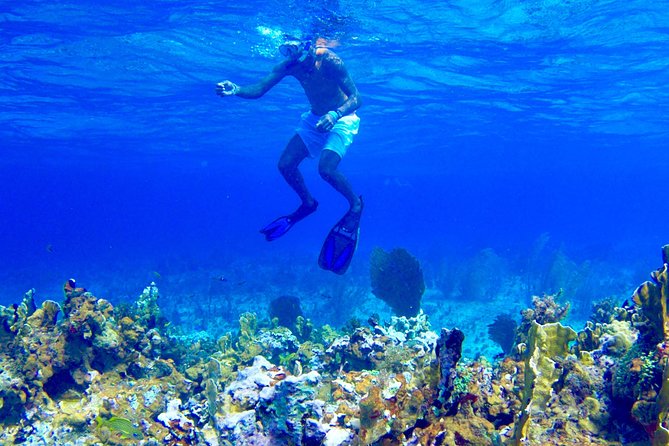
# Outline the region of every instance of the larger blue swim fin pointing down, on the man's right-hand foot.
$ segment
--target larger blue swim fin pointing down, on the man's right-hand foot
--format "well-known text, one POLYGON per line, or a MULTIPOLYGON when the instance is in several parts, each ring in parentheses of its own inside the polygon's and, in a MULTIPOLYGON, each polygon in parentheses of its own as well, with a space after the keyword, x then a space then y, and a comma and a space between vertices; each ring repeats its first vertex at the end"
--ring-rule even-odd
POLYGON ((334 225, 321 248, 318 266, 335 274, 341 275, 346 272, 358 247, 361 216, 362 209, 359 212, 348 211, 334 225))

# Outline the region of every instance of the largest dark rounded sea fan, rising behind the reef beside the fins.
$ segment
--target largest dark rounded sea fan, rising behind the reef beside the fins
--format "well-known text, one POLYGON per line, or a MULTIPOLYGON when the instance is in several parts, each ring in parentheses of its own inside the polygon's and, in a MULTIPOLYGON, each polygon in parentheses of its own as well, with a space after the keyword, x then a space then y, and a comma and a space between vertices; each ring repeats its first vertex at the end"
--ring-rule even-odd
POLYGON ((412 317, 418 314, 425 279, 420 263, 407 250, 397 248, 387 253, 374 248, 369 273, 372 293, 397 315, 412 317))

